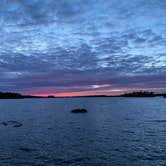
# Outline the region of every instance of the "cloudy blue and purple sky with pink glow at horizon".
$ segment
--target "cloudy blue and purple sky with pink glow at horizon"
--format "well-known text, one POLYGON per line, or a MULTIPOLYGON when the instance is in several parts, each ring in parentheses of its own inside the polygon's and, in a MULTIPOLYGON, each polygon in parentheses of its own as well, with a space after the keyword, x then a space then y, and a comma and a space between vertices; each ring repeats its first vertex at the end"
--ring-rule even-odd
POLYGON ((166 92, 166 1, 0 1, 0 91, 166 92))

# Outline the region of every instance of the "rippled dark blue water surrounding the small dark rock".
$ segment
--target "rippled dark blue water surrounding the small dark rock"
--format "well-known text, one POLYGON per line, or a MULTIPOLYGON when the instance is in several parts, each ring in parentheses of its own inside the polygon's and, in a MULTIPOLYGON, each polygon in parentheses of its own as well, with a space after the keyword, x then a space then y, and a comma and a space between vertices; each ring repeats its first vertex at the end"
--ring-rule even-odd
POLYGON ((166 165, 164 98, 0 100, 0 123, 0 166, 166 165))

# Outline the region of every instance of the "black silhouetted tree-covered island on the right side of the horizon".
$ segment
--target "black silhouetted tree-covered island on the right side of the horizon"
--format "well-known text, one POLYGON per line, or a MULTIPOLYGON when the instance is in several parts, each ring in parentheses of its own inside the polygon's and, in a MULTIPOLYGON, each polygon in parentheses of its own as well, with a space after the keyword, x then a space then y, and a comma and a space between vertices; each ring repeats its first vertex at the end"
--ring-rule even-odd
POLYGON ((122 97, 155 97, 157 95, 154 94, 154 92, 138 91, 138 92, 125 93, 121 96, 122 97))

